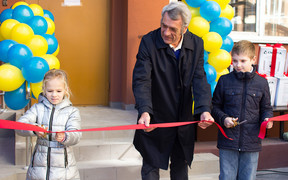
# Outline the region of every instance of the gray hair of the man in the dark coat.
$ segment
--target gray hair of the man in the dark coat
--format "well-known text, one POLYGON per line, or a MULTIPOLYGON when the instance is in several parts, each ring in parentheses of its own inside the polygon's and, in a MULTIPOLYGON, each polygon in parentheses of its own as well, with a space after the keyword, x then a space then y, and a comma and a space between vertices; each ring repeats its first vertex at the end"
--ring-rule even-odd
POLYGON ((181 1, 177 1, 177 2, 171 2, 168 5, 166 5, 162 9, 161 23, 163 20, 163 16, 166 12, 168 13, 169 17, 172 20, 178 20, 178 19, 180 19, 179 18, 179 16, 180 16, 182 18, 183 27, 188 27, 192 15, 191 15, 190 10, 188 9, 188 7, 186 6, 185 3, 181 2, 181 1))

